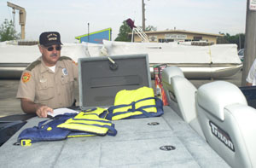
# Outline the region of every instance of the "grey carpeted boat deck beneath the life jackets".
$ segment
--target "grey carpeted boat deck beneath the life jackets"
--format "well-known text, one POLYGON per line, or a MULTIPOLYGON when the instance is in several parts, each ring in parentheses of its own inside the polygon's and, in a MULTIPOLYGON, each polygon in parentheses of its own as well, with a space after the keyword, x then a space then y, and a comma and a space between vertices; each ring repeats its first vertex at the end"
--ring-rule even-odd
POLYGON ((158 118, 113 121, 116 136, 13 145, 21 130, 44 120, 35 117, 3 144, 0 163, 5 167, 230 167, 171 107, 164 111, 158 118), (153 122, 159 125, 148 125, 153 122), (162 146, 175 149, 160 150, 162 146))

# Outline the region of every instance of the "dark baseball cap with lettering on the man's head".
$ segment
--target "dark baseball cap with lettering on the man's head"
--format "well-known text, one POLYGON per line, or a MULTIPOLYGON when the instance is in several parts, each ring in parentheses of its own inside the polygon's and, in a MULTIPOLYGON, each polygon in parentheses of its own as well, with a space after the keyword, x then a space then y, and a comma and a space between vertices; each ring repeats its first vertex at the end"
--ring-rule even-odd
POLYGON ((39 43, 45 47, 49 47, 54 44, 62 44, 61 35, 59 32, 42 32, 39 38, 39 43))

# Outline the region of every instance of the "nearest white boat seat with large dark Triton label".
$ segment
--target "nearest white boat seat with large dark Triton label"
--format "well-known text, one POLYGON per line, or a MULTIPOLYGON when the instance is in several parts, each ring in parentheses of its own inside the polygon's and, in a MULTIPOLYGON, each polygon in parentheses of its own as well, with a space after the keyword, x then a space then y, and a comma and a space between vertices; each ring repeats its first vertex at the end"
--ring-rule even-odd
POLYGON ((201 85, 196 108, 207 142, 230 166, 256 167, 256 109, 235 84, 201 85))

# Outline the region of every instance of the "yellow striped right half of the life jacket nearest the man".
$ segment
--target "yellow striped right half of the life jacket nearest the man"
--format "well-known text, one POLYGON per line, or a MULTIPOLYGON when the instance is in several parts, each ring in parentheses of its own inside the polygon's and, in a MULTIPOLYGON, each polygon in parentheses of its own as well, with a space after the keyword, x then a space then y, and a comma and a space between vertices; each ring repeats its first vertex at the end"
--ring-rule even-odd
MULTIPOLYGON (((65 123, 57 125, 58 128, 73 130, 73 131, 84 131, 96 135, 115 136, 117 130, 114 129, 114 125, 108 119, 102 119, 99 116, 106 112, 104 108, 97 107, 93 110, 80 112, 73 119, 67 119, 65 123)), ((76 135, 73 135, 76 136, 76 135)), ((73 137, 68 136, 68 137, 73 137)), ((83 136, 83 135, 77 135, 83 136)))

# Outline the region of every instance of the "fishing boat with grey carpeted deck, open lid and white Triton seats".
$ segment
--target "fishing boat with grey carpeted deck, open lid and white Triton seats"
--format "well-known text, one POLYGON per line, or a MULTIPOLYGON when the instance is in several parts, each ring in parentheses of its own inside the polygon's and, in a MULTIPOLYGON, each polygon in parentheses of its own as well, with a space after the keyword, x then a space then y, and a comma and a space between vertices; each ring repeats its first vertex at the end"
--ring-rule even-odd
MULTIPOLYGON (((84 105, 88 99, 96 99, 99 93, 104 95, 106 92, 100 91, 104 88, 108 90, 107 95, 114 95, 109 90, 121 86, 130 89, 139 84, 152 87, 149 65, 143 63, 148 62, 148 57, 135 56, 139 60, 134 60, 135 57, 131 55, 111 56, 114 63, 108 57, 79 59, 79 66, 84 65, 84 70, 80 68, 79 72, 80 105, 84 105), (131 70, 126 65, 132 62, 136 62, 136 66, 131 70), (117 64, 117 68, 110 68, 112 64, 117 64), (131 71, 123 71, 123 65, 131 71), (89 73, 88 68, 94 66, 101 68, 90 72, 90 77, 81 75, 83 72, 89 73), (145 73, 145 69, 148 72, 145 73), (119 78, 116 71, 125 72, 125 79, 119 78), (107 75, 106 78, 98 78, 102 74, 107 75), (82 78, 92 78, 94 82, 82 78), (111 83, 112 78, 119 80, 111 83), (107 82, 102 83, 102 80, 107 82), (96 84, 98 91, 90 92, 95 94, 84 99, 83 88, 91 84, 96 84)), ((163 107, 162 116, 115 120, 113 123, 118 130, 116 136, 77 137, 55 142, 36 142, 30 147, 16 146, 22 130, 44 120, 33 117, 26 119, 26 125, 0 148, 0 162, 6 167, 256 166, 256 111, 247 105, 238 87, 217 81, 203 84, 197 90, 179 67, 166 67, 161 78, 169 103, 163 107)), ((96 87, 92 85, 89 88, 91 91, 96 87)), ((109 97, 112 96, 108 96, 108 100, 109 97)), ((96 100, 106 101, 106 98, 96 100)), ((99 106, 96 101, 92 103, 99 106)))

